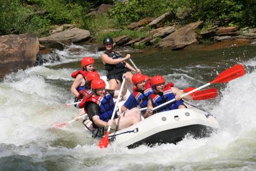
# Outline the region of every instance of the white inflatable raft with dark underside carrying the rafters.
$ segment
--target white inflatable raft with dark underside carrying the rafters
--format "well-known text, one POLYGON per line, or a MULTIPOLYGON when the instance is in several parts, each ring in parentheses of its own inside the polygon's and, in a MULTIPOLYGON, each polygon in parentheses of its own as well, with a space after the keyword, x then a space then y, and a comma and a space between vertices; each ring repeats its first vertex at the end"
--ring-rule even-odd
MULTIPOLYGON (((103 79, 106 81, 105 76, 103 79)), ((131 92, 132 85, 128 84, 127 98, 131 92)), ((120 101, 119 109, 123 104, 124 101, 120 101)), ((218 129, 218 121, 213 115, 189 104, 185 105, 188 108, 156 113, 131 127, 111 133, 108 136, 109 142, 128 148, 135 148, 141 144, 175 144, 188 133, 195 138, 202 138, 210 136, 218 129)))

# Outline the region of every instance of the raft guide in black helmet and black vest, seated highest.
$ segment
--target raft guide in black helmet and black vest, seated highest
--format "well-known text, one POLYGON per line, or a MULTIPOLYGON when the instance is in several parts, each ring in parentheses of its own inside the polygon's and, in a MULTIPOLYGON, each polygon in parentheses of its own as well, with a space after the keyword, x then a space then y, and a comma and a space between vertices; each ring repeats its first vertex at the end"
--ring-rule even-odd
POLYGON ((140 72, 135 70, 125 60, 131 58, 130 54, 127 54, 125 58, 122 58, 119 52, 113 50, 113 39, 110 37, 104 38, 103 44, 105 45, 105 52, 101 55, 101 60, 107 71, 107 79, 109 83, 109 89, 119 89, 122 82, 123 74, 128 75, 128 82, 132 84, 132 72, 140 72))

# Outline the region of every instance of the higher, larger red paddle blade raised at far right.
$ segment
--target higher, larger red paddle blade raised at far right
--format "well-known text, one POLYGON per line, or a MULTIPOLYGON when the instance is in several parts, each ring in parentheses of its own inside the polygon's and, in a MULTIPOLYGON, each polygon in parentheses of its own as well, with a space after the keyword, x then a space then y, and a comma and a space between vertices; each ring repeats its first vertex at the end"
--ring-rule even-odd
POLYGON ((226 83, 230 80, 236 79, 240 76, 245 75, 245 68, 241 64, 237 64, 219 74, 216 79, 214 79, 210 84, 213 83, 226 83))

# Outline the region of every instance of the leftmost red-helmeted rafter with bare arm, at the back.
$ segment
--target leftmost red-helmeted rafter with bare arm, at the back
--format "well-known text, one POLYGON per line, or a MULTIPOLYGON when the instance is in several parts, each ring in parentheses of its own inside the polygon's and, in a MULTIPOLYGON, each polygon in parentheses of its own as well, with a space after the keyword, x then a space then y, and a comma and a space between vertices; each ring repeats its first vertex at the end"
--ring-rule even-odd
POLYGON ((73 93, 73 95, 75 95, 77 98, 80 95, 79 91, 82 91, 83 89, 88 89, 88 88, 90 89, 90 87, 86 86, 87 84, 86 75, 89 72, 95 71, 94 63, 95 63, 94 58, 90 56, 84 57, 81 61, 83 70, 75 71, 71 75, 72 78, 75 78, 75 81, 72 84, 70 90, 73 93))

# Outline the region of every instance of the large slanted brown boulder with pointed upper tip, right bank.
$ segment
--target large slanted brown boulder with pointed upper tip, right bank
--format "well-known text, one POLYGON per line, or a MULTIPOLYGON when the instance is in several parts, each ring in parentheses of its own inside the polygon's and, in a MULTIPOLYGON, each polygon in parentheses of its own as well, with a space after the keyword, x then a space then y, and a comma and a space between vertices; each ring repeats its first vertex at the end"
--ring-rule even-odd
POLYGON ((188 44, 196 43, 197 34, 194 30, 201 24, 202 21, 190 23, 184 27, 179 28, 177 31, 166 36, 159 43, 157 43, 156 47, 178 50, 184 48, 188 44))

